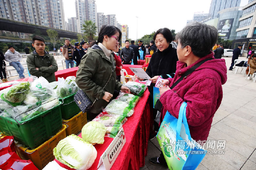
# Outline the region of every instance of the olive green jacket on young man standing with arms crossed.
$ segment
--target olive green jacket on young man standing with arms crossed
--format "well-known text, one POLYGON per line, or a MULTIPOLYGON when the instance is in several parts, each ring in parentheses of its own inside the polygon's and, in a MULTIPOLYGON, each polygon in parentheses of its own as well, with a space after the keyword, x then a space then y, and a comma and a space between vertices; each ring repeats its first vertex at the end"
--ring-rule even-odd
POLYGON ((55 72, 58 70, 58 65, 53 55, 44 51, 44 58, 40 57, 33 51, 27 56, 28 71, 32 76, 44 77, 49 83, 56 81, 55 72), (36 70, 39 68, 39 70, 36 70))

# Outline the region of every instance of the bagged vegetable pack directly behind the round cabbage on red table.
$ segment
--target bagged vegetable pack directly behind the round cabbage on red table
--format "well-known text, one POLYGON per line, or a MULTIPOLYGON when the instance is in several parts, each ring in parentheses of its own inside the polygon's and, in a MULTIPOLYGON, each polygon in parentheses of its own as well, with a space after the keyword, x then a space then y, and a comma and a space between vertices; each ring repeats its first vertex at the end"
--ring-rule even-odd
POLYGON ((103 123, 107 128, 106 133, 109 134, 108 137, 116 137, 120 129, 122 129, 122 124, 127 121, 127 118, 123 115, 109 115, 100 113, 92 121, 103 123))

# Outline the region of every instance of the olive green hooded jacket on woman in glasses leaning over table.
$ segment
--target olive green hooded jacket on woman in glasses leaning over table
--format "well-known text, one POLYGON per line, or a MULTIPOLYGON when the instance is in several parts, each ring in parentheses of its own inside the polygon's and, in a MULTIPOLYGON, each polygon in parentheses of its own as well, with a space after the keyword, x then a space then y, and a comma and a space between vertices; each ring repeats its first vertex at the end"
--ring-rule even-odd
POLYGON ((119 91, 121 89, 122 84, 116 80, 115 69, 116 62, 113 55, 110 55, 109 60, 96 44, 89 48, 88 52, 83 56, 76 72, 76 84, 84 91, 92 103, 96 98, 98 99, 93 104, 90 112, 100 113, 102 108, 108 105, 108 102, 102 99, 105 92, 114 94, 114 90, 119 91), (111 78, 109 79, 110 75, 111 78), (106 87, 103 89, 105 85, 106 87))

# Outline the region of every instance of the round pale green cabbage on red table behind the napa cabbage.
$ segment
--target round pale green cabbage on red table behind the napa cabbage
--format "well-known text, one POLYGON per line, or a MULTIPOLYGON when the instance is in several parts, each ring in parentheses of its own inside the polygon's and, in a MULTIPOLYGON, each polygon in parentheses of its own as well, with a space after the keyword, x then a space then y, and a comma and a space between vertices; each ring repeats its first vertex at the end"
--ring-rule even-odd
POLYGON ((91 144, 103 144, 105 133, 104 124, 91 121, 82 128, 82 139, 91 144))

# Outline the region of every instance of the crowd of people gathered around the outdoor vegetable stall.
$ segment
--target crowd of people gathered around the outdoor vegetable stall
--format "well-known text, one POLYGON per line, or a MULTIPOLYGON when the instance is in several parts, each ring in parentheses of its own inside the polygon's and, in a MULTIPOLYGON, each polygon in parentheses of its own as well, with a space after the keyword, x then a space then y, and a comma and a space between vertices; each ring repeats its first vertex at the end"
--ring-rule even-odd
MULTIPOLYGON (((108 102, 115 99, 116 92, 129 92, 126 86, 120 83, 120 71, 123 64, 137 64, 140 61, 140 51, 143 51, 143 58, 151 54, 146 73, 151 78, 149 101, 152 107, 151 120, 154 125, 150 132, 150 138, 156 136, 159 125, 164 119, 167 111, 176 118, 179 116, 179 109, 183 102, 187 103, 186 117, 191 137, 195 141, 206 141, 211 129, 212 119, 220 107, 222 100, 222 85, 227 81, 227 67, 224 59, 221 59, 223 44, 215 44, 218 38, 218 31, 213 26, 193 22, 185 26, 173 40, 172 33, 168 28, 161 28, 154 34, 153 40, 146 47, 142 41, 125 41, 125 47, 120 50, 120 39, 122 33, 115 26, 102 26, 98 40, 94 42, 76 42, 73 46, 69 40, 65 40, 62 46, 62 54, 65 57, 66 68, 72 68, 74 61, 78 67, 76 73, 76 84, 84 91, 93 105, 87 112, 87 118, 94 119, 106 107, 108 102), (177 42, 177 43, 176 43, 177 42), (215 45, 214 45, 215 44, 215 45), (200 64, 199 64, 200 63, 200 64), (187 77, 181 80, 175 87, 172 85, 178 79, 190 71, 187 77), (153 108, 153 87, 158 77, 164 78, 166 87, 160 88, 161 110, 153 108), (156 115, 160 114, 160 121, 155 121, 156 115)), ((55 81, 54 72, 58 65, 53 55, 46 52, 45 41, 40 36, 33 38, 32 46, 35 50, 28 55, 27 64, 31 75, 43 76, 49 82, 55 81)), ((234 50, 234 59, 240 55, 241 45, 234 50)), ((8 61, 23 78, 23 67, 20 64, 21 55, 15 51, 13 46, 1 54, 0 62, 3 66, 1 79, 7 81, 5 63, 8 61)), ((232 64, 234 61, 232 58, 232 64)), ((233 69, 233 65, 229 70, 233 69)), ((256 70, 256 54, 251 53, 249 64, 256 70)), ((140 81, 143 79, 139 78, 140 81)), ((203 142, 204 143, 204 142, 203 142)), ((201 144, 203 144, 201 143, 201 144)), ((166 164, 163 154, 150 158, 152 164, 166 164)))

